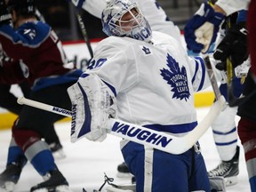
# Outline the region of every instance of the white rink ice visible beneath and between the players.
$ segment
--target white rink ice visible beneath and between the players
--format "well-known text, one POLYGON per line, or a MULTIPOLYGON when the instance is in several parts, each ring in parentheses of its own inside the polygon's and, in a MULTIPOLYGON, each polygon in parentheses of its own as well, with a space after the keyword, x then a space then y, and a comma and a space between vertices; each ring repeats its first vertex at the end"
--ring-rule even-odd
MULTIPOLYGON (((198 122, 206 115, 209 108, 197 108, 198 122)), ((239 120, 237 117, 236 122, 239 120)), ((73 192, 87 192, 99 189, 104 183, 104 172, 114 178, 115 184, 130 183, 130 179, 116 178, 116 167, 123 162, 119 148, 119 138, 108 135, 103 142, 92 142, 86 139, 71 143, 69 140, 70 122, 56 124, 56 131, 60 136, 65 154, 63 159, 56 159, 60 171, 67 178, 69 187, 73 192)), ((11 131, 0 131, 0 172, 4 171, 11 131)), ((215 168, 220 162, 217 149, 212 138, 212 129, 205 132, 199 140, 207 169, 215 168)), ((240 140, 238 145, 241 146, 240 140)), ((240 173, 238 183, 227 188, 228 192, 249 192, 249 182, 244 161, 244 150, 240 148, 240 173)), ((43 179, 37 174, 31 164, 27 164, 16 186, 16 192, 28 192, 29 189, 43 179)), ((104 188, 101 190, 104 191, 104 188)))

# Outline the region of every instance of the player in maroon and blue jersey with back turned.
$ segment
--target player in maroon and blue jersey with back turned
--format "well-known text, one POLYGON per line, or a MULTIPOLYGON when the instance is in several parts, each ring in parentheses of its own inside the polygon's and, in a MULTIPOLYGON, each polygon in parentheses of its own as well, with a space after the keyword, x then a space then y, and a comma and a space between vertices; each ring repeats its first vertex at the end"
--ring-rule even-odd
MULTIPOLYGON (((35 12, 33 0, 10 0, 7 5, 4 0, 0 1, 0 42, 11 58, 4 60, 0 68, 0 83, 28 81, 29 99, 71 108, 67 88, 76 82, 82 71, 68 68, 58 36, 49 25, 36 19, 35 12)), ((31 192, 69 191, 68 181, 55 164, 49 146, 41 140, 62 118, 40 109, 22 107, 12 126, 14 140, 6 168, 1 173, 0 188, 12 191, 20 179, 22 167, 29 161, 44 178, 44 182, 30 188, 31 192)))

